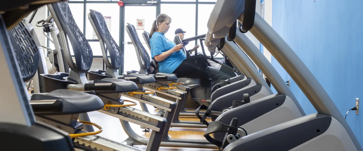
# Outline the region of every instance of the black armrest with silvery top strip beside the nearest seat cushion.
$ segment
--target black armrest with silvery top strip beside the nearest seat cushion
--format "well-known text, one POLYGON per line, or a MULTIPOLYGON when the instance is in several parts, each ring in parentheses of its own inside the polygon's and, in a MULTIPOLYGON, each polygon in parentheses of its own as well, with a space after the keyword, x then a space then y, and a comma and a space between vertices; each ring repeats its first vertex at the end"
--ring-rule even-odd
POLYGON ((31 100, 34 113, 36 112, 62 112, 62 100, 31 100))

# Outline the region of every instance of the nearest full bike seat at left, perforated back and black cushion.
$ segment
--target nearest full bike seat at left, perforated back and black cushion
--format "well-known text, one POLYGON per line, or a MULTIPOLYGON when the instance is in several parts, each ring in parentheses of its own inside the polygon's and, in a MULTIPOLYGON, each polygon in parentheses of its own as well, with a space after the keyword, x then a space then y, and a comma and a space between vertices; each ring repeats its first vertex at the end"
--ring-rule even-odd
MULTIPOLYGON (((11 43, 13 44, 15 56, 19 63, 19 69, 23 77, 23 81, 31 80, 36 74, 39 64, 39 52, 36 43, 31 37, 28 29, 20 22, 13 29, 8 31, 11 43), (25 50, 23 50, 25 48, 25 50)), ((36 115, 62 115, 85 113, 103 108, 103 102, 97 96, 84 92, 70 91, 66 89, 58 89, 52 92, 42 94, 33 94, 31 100, 61 100, 58 112, 34 112, 36 115), (61 110, 59 110, 61 109, 61 110)), ((42 102, 40 102, 42 104, 42 102)), ((40 105, 40 104, 33 104, 40 105)), ((42 108, 46 109, 50 104, 42 104, 42 108)), ((51 110, 51 108, 49 108, 51 110)))

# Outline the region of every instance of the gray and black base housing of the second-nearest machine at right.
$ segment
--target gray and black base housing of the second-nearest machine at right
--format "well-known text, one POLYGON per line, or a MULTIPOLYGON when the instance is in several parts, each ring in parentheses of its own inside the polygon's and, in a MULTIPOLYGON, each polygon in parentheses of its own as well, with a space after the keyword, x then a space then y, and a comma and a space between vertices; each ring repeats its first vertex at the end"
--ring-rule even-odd
MULTIPOLYGON (((229 124, 233 118, 237 118, 237 127, 241 127, 249 135, 299 117, 302 115, 290 97, 274 94, 228 110, 215 121, 229 124)), ((223 141, 224 134, 217 132, 213 136, 223 141)))

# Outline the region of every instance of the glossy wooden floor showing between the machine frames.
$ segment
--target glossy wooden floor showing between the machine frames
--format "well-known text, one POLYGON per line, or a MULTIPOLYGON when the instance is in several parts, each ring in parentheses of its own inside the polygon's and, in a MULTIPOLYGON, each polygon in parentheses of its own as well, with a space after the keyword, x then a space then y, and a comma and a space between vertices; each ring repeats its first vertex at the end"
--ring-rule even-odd
MULTIPOLYGON (((151 105, 147 105, 148 109, 151 113, 156 113, 158 110, 155 109, 151 105)), ((140 109, 140 105, 132 106, 136 109, 140 109)), ((102 133, 98 134, 101 137, 105 137, 116 142, 123 142, 128 136, 126 135, 125 131, 123 130, 121 123, 118 118, 108 116, 106 114, 94 111, 88 113, 91 122, 94 122, 102 127, 102 133)), ((179 118, 182 121, 199 121, 198 118, 179 118)), ((130 126, 135 131, 136 134, 149 138, 150 132, 143 132, 139 125, 130 123, 130 126)), ((97 128, 94 127, 95 130, 97 128)), ((169 131, 169 137, 171 138, 180 138, 180 139, 205 139, 203 134, 205 133, 206 129, 203 128, 184 128, 184 127, 172 127, 169 131)), ((141 150, 145 150, 146 146, 134 146, 141 150)), ((179 148, 179 147, 160 147, 159 151, 217 151, 213 149, 203 149, 203 148, 179 148)))

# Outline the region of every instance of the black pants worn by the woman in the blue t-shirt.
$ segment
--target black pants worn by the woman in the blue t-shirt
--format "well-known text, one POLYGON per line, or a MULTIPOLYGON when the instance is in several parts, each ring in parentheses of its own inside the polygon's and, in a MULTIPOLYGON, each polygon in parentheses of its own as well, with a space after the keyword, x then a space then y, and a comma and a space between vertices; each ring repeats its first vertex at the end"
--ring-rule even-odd
POLYGON ((192 55, 188 56, 187 59, 174 70, 173 74, 176 74, 178 78, 187 77, 200 79, 200 84, 203 87, 211 87, 207 67, 208 62, 204 56, 192 55))

